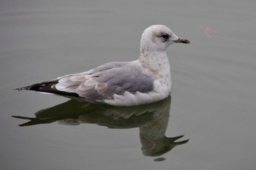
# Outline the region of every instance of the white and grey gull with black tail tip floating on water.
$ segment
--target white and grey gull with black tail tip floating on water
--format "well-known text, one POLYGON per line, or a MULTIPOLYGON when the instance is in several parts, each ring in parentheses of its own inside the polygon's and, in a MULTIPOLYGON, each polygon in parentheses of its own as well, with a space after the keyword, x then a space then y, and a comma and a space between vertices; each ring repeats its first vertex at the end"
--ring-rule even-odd
POLYGON ((14 90, 34 90, 113 106, 160 101, 170 96, 171 89, 166 49, 178 42, 190 44, 167 26, 149 26, 141 36, 140 57, 136 61, 105 63, 87 72, 67 74, 14 90))

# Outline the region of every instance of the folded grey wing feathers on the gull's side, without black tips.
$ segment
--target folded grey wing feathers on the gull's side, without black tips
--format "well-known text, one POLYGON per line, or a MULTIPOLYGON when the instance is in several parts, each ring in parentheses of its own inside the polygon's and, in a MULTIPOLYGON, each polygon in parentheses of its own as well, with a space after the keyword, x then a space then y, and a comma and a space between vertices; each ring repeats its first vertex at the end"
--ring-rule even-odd
POLYGON ((89 72, 60 77, 57 90, 77 93, 88 100, 112 99, 114 94, 146 93, 153 90, 153 78, 143 73, 140 66, 127 62, 106 63, 89 72))

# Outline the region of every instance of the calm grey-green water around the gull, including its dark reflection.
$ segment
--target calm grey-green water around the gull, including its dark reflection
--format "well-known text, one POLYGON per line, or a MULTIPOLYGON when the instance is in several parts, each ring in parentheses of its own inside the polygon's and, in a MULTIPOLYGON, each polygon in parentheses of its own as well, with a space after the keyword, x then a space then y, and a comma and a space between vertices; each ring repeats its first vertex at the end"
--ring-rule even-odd
POLYGON ((1 169, 255 169, 256 1, 1 1, 1 169), (108 107, 12 88, 138 58, 164 24, 172 96, 108 107), (12 117, 12 115, 18 117, 12 117))

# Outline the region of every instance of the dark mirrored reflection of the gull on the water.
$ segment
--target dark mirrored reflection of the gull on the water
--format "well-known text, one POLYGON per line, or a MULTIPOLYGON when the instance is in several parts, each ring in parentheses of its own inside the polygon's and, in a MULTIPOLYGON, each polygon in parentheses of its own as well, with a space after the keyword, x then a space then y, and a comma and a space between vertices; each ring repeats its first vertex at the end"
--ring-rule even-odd
MULTIPOLYGON (((12 117, 29 120, 20 126, 58 122, 64 125, 94 123, 108 128, 139 128, 143 155, 151 157, 159 157, 173 147, 189 142, 189 139, 176 142, 183 136, 165 136, 170 116, 170 97, 135 107, 113 107, 69 100, 55 107, 42 109, 35 116, 12 117)), ((156 158, 154 161, 164 160, 165 158, 156 158)))

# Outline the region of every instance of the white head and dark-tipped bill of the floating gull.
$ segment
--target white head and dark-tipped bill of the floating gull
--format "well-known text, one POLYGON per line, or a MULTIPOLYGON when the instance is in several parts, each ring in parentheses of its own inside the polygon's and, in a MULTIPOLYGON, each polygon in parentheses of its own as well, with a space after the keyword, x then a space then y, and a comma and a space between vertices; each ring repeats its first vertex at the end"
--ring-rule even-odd
POLYGON ((189 44, 189 40, 178 38, 170 28, 154 25, 146 28, 140 39, 140 53, 161 52, 176 42, 189 44))

